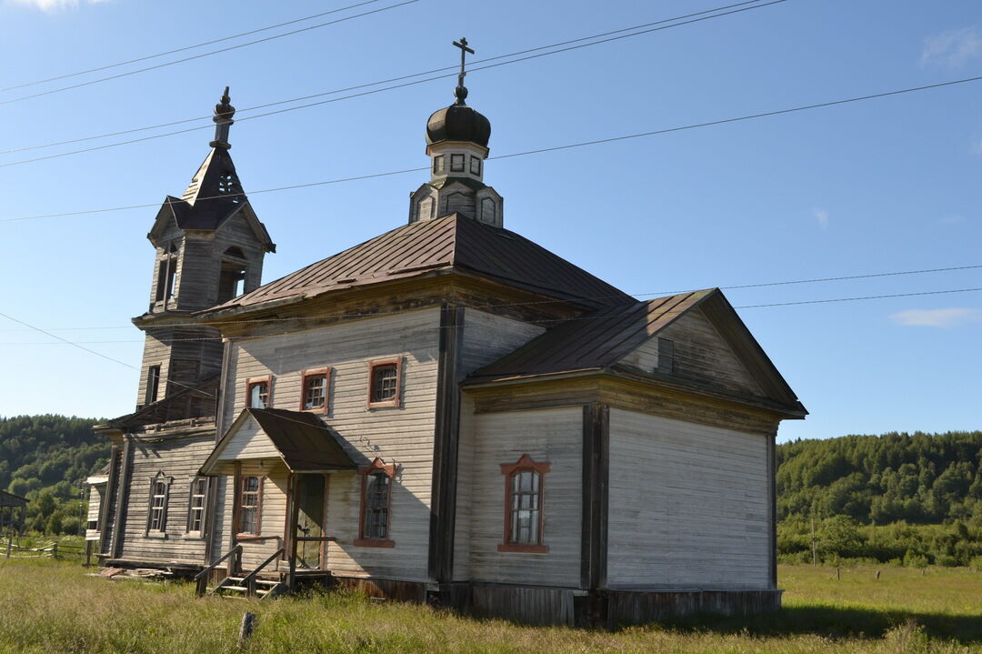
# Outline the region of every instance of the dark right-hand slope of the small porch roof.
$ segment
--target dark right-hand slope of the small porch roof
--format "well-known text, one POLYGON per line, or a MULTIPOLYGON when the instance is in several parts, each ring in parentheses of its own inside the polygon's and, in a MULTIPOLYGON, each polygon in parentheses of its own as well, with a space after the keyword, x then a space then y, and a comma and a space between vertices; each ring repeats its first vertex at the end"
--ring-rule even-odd
POLYGON ((345 470, 357 467, 334 432, 316 415, 285 409, 245 411, 259 423, 291 470, 345 470))

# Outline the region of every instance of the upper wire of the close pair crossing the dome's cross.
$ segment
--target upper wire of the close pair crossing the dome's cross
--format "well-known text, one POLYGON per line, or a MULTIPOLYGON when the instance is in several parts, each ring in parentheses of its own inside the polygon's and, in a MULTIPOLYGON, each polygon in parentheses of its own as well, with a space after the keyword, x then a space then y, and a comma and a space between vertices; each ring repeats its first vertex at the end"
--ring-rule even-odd
MULTIPOLYGON (((373 0, 373 1, 378 1, 378 0, 373 0)), ((509 53, 506 53, 506 54, 495 55, 493 57, 487 57, 485 59, 475 59, 475 60, 472 60, 470 62, 470 66, 471 66, 470 72, 473 72, 475 70, 475 69, 473 69, 473 66, 475 66, 477 64, 483 64, 483 63, 487 63, 487 62, 491 62, 491 61, 497 61, 499 59, 508 59, 508 58, 511 58, 511 57, 517 57, 519 55, 528 54, 530 52, 538 52, 540 50, 548 50, 548 49, 560 47, 560 46, 563 46, 563 45, 569 45, 571 43, 578 43, 578 42, 581 42, 581 41, 592 40, 592 39, 595 39, 595 38, 601 38, 603 36, 610 36, 611 34, 618 34, 618 33, 622 33, 622 32, 625 32, 625 31, 632 31, 632 30, 635 30, 635 29, 643 28, 643 27, 651 27, 651 26, 656 26, 656 25, 662 25, 662 24, 665 24, 665 23, 674 23, 676 21, 681 21, 683 19, 693 18, 693 17, 696 17, 696 16, 703 16, 703 15, 706 15, 706 14, 715 14, 716 12, 721 12, 721 11, 724 11, 724 10, 727 10, 727 9, 732 9, 732 8, 735 8, 735 7, 741 7, 741 6, 744 6, 744 5, 756 5, 756 4, 760 3, 760 2, 762 2, 762 0, 744 0, 744 2, 738 2, 738 3, 733 4, 733 5, 726 5, 726 6, 723 6, 723 7, 716 7, 714 9, 707 9, 707 10, 704 10, 704 11, 701 11, 701 12, 695 12, 695 13, 692 13, 692 14, 685 14, 683 16, 677 16, 675 18, 662 19, 660 21, 654 21, 654 22, 651 22, 651 23, 644 23, 644 24, 641 24, 641 25, 636 25, 636 26, 631 26, 631 27, 621 27, 619 29, 613 29, 611 31, 605 31, 605 32, 601 32, 601 33, 598 33, 598 34, 591 34, 589 36, 581 36, 581 37, 578 37, 578 38, 573 38, 573 39, 568 39, 568 40, 565 40, 565 41, 560 41, 558 43, 551 43, 549 45, 540 45, 540 46, 533 47, 533 48, 527 48, 525 50, 518 50, 516 52, 509 52, 509 53)), ((771 3, 769 3, 769 4, 771 4, 771 3)), ((720 16, 725 16, 725 14, 721 14, 720 16)), ((716 17, 714 16, 714 17, 711 17, 711 18, 716 18, 716 17)), ((675 26, 672 26, 672 27, 675 27, 675 26)), ((638 33, 640 34, 640 33, 647 33, 647 32, 638 32, 638 33)), ((628 34, 627 36, 633 36, 633 35, 635 35, 635 34, 628 34)), ((248 111, 255 111, 256 109, 265 109, 267 107, 274 107, 274 106, 278 106, 278 105, 281 105, 281 104, 291 104, 293 102, 300 102, 302 100, 309 100, 309 99, 312 99, 312 98, 315 98, 315 97, 323 97, 324 95, 334 95, 334 94, 337 94, 337 93, 345 93, 345 92, 352 91, 352 90, 357 90, 357 89, 360 89, 360 88, 366 88, 368 86, 377 86, 379 84, 386 84, 386 83, 390 83, 390 82, 402 82, 404 80, 410 80, 412 78, 418 78, 418 77, 422 77, 424 75, 433 75, 435 73, 443 73, 443 72, 446 72, 446 71, 455 71, 455 73, 453 75, 440 76, 438 78, 431 78, 430 80, 421 80, 421 81, 416 82, 416 83, 430 82, 432 80, 443 80, 443 79, 446 79, 446 78, 450 78, 450 77, 456 76, 457 75, 457 73, 456 73, 457 68, 458 68, 457 66, 444 66, 442 68, 436 68, 436 69, 432 69, 432 70, 429 70, 429 71, 420 71, 419 73, 412 73, 410 75, 403 75, 403 76, 396 77, 396 78, 390 78, 388 80, 380 80, 380 81, 377 81, 377 82, 365 82, 365 83, 361 83, 361 84, 356 84, 354 86, 347 86, 345 88, 335 88, 335 89, 329 90, 329 91, 321 91, 321 92, 312 93, 312 94, 309 94, 309 95, 301 95, 300 97, 294 97, 294 98, 290 98, 290 99, 287 99, 287 100, 277 100, 277 101, 274 101, 274 102, 267 102, 265 104, 259 104, 259 105, 255 105, 255 106, 251 106, 251 107, 241 107, 241 108, 238 109, 238 112, 241 115, 241 114, 243 114, 245 112, 248 112, 248 111)), ((482 69, 480 69, 480 70, 482 70, 482 69)), ((401 88, 401 87, 402 87, 402 85, 400 85, 400 86, 394 86, 393 88, 401 88)), ((358 97, 358 96, 351 96, 351 97, 358 97)), ((211 122, 211 118, 212 117, 210 115, 208 115, 208 116, 197 116, 197 117, 194 117, 194 118, 186 118, 184 120, 179 120, 179 121, 171 121, 169 123, 160 123, 158 125, 151 125, 151 126, 147 126, 147 127, 134 128, 134 129, 131 129, 131 130, 122 130, 122 131, 119 131, 119 132, 110 132, 110 133, 101 134, 101 135, 95 135, 95 136, 82 136, 80 138, 72 138, 72 139, 69 139, 69 140, 62 140, 62 141, 56 141, 56 142, 50 142, 50 143, 43 143, 43 144, 40 144, 40 145, 27 145, 27 146, 23 146, 23 147, 11 148, 11 149, 7 149, 7 150, 0 150, 0 154, 9 154, 9 153, 13 153, 13 152, 23 152, 23 151, 26 151, 26 150, 35 150, 35 149, 40 149, 40 148, 44 148, 44 147, 54 147, 54 146, 57 146, 57 145, 68 145, 68 144, 71 144, 71 143, 79 143, 79 142, 86 141, 86 140, 94 140, 94 139, 98 139, 98 138, 107 138, 109 136, 122 136, 122 135, 125 135, 125 134, 134 134, 136 132, 146 132, 148 130, 157 130, 157 129, 160 129, 160 128, 172 127, 174 125, 182 125, 182 124, 185 124, 185 123, 194 123, 194 122, 197 122, 197 121, 208 121, 210 123, 211 122)), ((240 118, 239 120, 245 120, 245 119, 244 118, 240 118)), ((197 128, 197 129, 208 129, 208 128, 210 128, 210 125, 202 126, 200 128, 197 128)), ((184 130, 184 131, 181 131, 181 132, 174 132, 174 133, 171 133, 171 134, 168 134, 168 135, 160 135, 160 136, 172 136, 172 135, 176 135, 176 134, 185 134, 186 132, 191 132, 191 131, 192 130, 184 130)), ((127 143, 130 143, 130 142, 136 142, 136 141, 125 141, 124 143, 121 143, 121 144, 127 144, 127 143)), ((81 151, 87 151, 87 150, 81 150, 81 151)), ((74 152, 68 152, 68 153, 65 153, 65 154, 73 154, 73 153, 74 152)), ((28 161, 34 161, 34 159, 30 159, 28 161)))

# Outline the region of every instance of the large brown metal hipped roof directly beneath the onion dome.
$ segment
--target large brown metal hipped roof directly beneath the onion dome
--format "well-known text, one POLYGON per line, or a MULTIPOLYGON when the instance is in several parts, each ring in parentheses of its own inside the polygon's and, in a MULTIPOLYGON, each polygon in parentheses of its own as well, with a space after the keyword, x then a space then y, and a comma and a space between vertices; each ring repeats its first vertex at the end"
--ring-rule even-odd
POLYGON ((386 232, 210 310, 311 297, 434 271, 467 272, 590 307, 632 301, 515 232, 455 213, 386 232))

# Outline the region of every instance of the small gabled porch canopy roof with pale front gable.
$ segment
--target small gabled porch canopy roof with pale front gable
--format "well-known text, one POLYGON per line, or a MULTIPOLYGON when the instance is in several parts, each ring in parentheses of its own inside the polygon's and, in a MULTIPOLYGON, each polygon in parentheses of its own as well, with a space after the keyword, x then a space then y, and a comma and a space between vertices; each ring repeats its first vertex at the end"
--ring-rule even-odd
POLYGON ((279 460, 293 472, 353 470, 337 434, 312 413, 284 409, 243 409, 200 474, 232 474, 238 461, 279 460))

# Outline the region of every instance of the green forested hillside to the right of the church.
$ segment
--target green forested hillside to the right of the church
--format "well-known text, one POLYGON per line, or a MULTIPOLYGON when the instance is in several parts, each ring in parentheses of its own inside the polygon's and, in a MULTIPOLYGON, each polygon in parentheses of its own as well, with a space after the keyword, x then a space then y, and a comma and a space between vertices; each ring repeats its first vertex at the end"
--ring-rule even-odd
POLYGON ((798 440, 776 454, 784 561, 982 568, 982 431, 798 440))

